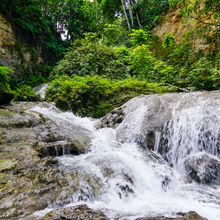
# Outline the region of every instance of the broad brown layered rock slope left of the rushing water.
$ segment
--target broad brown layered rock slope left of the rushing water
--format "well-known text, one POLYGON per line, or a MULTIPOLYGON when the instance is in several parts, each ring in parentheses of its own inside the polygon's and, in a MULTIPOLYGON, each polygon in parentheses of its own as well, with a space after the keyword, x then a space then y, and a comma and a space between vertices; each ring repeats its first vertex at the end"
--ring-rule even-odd
MULTIPOLYGON (((72 139, 68 136, 61 141, 64 133, 60 134, 51 119, 32 111, 35 105, 12 103, 0 108, 0 219, 25 219, 49 204, 71 202, 71 195, 78 191, 80 195, 77 171, 62 169, 52 156, 56 155, 55 145, 58 154, 63 155, 61 149, 68 144, 62 141, 69 143, 69 153, 71 147, 73 153, 86 151, 90 137, 84 132, 76 139, 72 135, 72 139)), ((84 131, 75 129, 77 134, 84 131)))

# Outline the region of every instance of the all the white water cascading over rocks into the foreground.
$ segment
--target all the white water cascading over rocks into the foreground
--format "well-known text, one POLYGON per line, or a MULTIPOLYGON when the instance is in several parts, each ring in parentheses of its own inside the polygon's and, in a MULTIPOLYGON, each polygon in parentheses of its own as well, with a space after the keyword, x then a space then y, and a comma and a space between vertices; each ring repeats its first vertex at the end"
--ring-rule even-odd
POLYGON ((99 121, 71 113, 34 111, 82 124, 93 136, 90 152, 58 157, 62 169, 79 173, 80 190, 36 216, 86 203, 103 210, 110 219, 175 217, 189 211, 209 220, 220 219, 220 93, 150 95, 131 100, 125 104, 125 118, 116 129, 96 129, 99 121), (144 138, 149 131, 154 152, 147 148, 149 138, 144 138), (216 168, 208 175, 213 181, 195 181, 195 175, 201 177, 196 168, 192 179, 186 178, 187 160, 196 163, 201 173, 211 169, 213 174, 216 168))

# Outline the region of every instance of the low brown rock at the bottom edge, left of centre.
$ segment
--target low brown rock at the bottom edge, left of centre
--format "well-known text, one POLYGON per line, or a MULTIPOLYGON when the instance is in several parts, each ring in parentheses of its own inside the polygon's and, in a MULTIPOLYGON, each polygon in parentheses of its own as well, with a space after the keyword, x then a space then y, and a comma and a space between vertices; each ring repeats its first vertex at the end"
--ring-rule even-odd
POLYGON ((74 207, 67 207, 63 209, 57 209, 49 212, 41 220, 54 220, 54 219, 66 219, 66 220, 108 220, 108 218, 100 211, 93 211, 87 205, 79 205, 74 207))

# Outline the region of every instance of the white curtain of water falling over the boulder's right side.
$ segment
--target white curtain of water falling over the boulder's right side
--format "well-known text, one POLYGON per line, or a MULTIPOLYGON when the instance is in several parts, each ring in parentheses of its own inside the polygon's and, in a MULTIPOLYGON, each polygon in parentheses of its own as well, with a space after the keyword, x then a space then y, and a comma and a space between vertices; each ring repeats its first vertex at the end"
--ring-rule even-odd
MULTIPOLYGON (((167 152, 162 153, 163 156, 179 169, 186 157, 193 153, 204 151, 219 157, 219 103, 200 98, 194 100, 194 103, 188 103, 192 106, 179 109, 179 105, 177 103, 173 106, 172 120, 164 126, 163 139, 167 141, 167 152)), ((165 149, 162 145, 161 148, 165 149)))

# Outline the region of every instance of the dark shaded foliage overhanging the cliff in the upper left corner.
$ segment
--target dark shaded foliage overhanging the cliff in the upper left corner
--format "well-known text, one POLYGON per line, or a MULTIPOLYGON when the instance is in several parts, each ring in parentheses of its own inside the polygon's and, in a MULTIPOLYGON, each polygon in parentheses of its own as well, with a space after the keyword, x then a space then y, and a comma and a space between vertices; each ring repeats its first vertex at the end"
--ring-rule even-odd
MULTIPOLYGON (((51 8, 50 0, 0 1, 0 9, 12 23, 18 41, 34 47, 40 46, 44 58, 54 63, 65 50, 65 43, 57 33, 55 11, 52 13, 51 8)), ((16 46, 22 57, 20 45, 16 46)))

